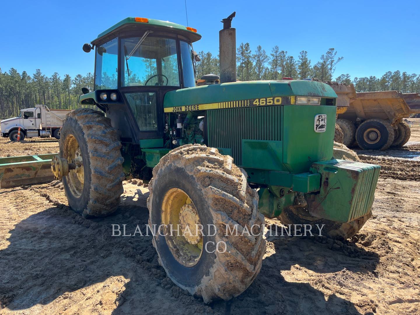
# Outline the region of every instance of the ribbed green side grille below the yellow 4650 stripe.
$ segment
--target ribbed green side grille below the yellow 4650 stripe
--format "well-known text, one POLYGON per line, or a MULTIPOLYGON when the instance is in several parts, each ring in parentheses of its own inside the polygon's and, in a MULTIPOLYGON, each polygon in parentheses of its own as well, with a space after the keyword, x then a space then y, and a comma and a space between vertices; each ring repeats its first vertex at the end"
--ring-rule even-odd
POLYGON ((217 109, 207 112, 208 145, 231 149, 242 165, 242 139, 281 140, 282 106, 217 109))

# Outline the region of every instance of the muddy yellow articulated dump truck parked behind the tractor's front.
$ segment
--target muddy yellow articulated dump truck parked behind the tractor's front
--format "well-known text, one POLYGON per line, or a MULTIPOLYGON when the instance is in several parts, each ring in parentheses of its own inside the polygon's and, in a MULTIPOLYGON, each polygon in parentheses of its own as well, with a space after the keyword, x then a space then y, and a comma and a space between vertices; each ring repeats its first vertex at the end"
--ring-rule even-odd
POLYGON ((407 143, 410 127, 403 119, 420 113, 412 104, 420 99, 419 94, 398 91, 356 93, 353 84, 325 83, 338 96, 336 123, 344 133, 343 143, 347 147, 358 145, 364 150, 386 150, 407 143))

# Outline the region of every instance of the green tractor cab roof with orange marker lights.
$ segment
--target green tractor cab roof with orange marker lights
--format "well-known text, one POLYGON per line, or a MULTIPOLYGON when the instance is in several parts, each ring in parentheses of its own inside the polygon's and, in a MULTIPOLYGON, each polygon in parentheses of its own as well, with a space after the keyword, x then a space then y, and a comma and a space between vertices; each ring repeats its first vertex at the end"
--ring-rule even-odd
POLYGON ((119 21, 117 24, 114 24, 109 29, 105 30, 104 32, 98 34, 97 38, 92 40, 92 44, 95 44, 102 38, 107 36, 109 33, 115 31, 116 29, 123 29, 126 26, 143 26, 144 29, 157 29, 160 31, 169 31, 169 32, 175 32, 177 34, 183 35, 190 39, 192 42, 196 42, 201 38, 201 35, 197 32, 194 32, 192 28, 187 29, 186 26, 181 24, 172 23, 169 21, 160 21, 155 20, 153 18, 124 18, 123 20, 119 21))

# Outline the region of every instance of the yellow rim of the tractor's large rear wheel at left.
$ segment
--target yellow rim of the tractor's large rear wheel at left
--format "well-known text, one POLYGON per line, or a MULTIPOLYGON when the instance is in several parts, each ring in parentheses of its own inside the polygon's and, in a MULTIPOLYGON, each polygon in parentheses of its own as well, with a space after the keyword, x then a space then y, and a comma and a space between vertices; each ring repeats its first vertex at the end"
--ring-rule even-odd
POLYGON ((83 157, 79 143, 74 136, 67 136, 64 149, 64 157, 67 159, 68 163, 76 164, 76 169, 68 172, 68 188, 75 197, 80 197, 84 186, 83 157))

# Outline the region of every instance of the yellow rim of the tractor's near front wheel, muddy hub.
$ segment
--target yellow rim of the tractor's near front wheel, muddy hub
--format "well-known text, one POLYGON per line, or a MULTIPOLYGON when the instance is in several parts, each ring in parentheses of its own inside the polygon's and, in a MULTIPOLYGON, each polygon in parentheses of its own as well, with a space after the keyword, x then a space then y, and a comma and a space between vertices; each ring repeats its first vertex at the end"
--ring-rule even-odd
POLYGON ((162 202, 161 234, 173 257, 186 267, 197 264, 202 255, 203 236, 197 208, 189 195, 179 188, 166 192, 162 202))

